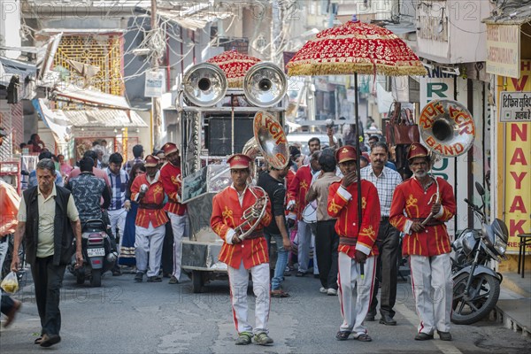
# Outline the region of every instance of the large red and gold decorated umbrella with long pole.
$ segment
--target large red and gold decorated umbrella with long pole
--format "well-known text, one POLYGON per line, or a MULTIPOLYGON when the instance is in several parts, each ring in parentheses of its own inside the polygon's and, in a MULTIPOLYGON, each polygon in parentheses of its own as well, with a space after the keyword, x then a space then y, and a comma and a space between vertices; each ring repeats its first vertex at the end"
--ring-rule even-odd
MULTIPOLYGON (((341 26, 325 29, 306 42, 289 60, 288 74, 354 74, 354 115, 359 136, 358 73, 391 76, 426 75, 419 57, 389 29, 353 19, 341 26)), ((356 139, 359 161, 359 139, 356 139)), ((359 164, 357 173, 359 176, 359 164)), ((361 183, 358 183, 358 216, 361 226, 361 183)), ((360 266, 363 274, 363 266, 360 266)))

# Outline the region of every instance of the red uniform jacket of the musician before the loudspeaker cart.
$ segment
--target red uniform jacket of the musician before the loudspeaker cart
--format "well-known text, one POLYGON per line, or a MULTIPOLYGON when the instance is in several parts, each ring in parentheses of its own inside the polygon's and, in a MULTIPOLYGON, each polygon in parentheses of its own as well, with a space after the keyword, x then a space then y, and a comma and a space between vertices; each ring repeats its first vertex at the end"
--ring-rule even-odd
MULTIPOLYGON (((252 239, 245 238, 242 242, 235 244, 232 242, 230 244, 227 243, 227 235, 233 234, 235 227, 244 222, 244 219, 242 219, 243 212, 256 203, 256 197, 249 190, 251 188, 257 196, 263 196, 261 190, 248 187, 244 192, 242 205, 240 205, 238 192, 234 187, 229 186, 214 196, 212 200, 211 227, 225 241, 219 252, 218 259, 220 262, 227 264, 227 266, 236 269, 240 267, 242 261, 245 269, 269 262, 267 242, 263 236, 252 239)), ((267 199, 266 213, 253 234, 261 233, 271 220, 271 202, 267 199)), ((247 227, 246 229, 249 228, 247 227)))

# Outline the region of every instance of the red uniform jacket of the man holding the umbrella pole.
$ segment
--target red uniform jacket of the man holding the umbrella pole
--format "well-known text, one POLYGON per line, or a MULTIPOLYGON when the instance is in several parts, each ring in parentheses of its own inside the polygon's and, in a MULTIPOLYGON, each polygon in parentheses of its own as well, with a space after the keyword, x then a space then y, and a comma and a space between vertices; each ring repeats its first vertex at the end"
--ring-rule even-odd
POLYGON ((367 256, 377 256, 378 246, 375 244, 380 228, 380 199, 378 190, 370 181, 361 181, 361 227, 358 219, 358 182, 351 183, 346 189, 341 187, 342 181, 334 182, 328 189, 328 215, 337 219, 335 232, 340 236, 338 251, 350 258, 355 258, 356 250, 367 256), (341 242, 342 237, 357 239, 355 245, 341 242))

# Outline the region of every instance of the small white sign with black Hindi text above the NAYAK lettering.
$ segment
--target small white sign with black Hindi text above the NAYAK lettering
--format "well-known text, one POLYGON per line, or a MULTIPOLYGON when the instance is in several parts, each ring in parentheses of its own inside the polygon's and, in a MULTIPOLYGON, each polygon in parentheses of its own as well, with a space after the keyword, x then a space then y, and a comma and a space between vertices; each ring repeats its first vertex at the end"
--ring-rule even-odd
POLYGON ((531 122, 531 92, 500 92, 500 122, 531 122))

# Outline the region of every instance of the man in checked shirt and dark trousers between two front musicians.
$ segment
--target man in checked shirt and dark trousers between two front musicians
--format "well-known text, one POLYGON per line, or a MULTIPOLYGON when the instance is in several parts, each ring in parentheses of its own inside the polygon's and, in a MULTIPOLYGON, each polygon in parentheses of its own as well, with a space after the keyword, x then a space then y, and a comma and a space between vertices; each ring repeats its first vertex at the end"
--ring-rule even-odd
POLYGON ((373 300, 366 316, 366 321, 373 321, 376 316, 378 300, 378 285, 381 283, 380 295, 380 323, 387 326, 396 326, 393 319, 395 311, 393 306, 396 301, 396 275, 397 258, 400 254, 400 232, 389 224, 389 210, 396 186, 402 183, 400 173, 393 171, 385 164, 388 160, 388 146, 385 142, 374 142, 371 146, 371 165, 361 169, 361 179, 370 181, 378 189, 380 198, 381 221, 376 245, 380 257, 376 262, 376 279, 374 280, 373 300))

